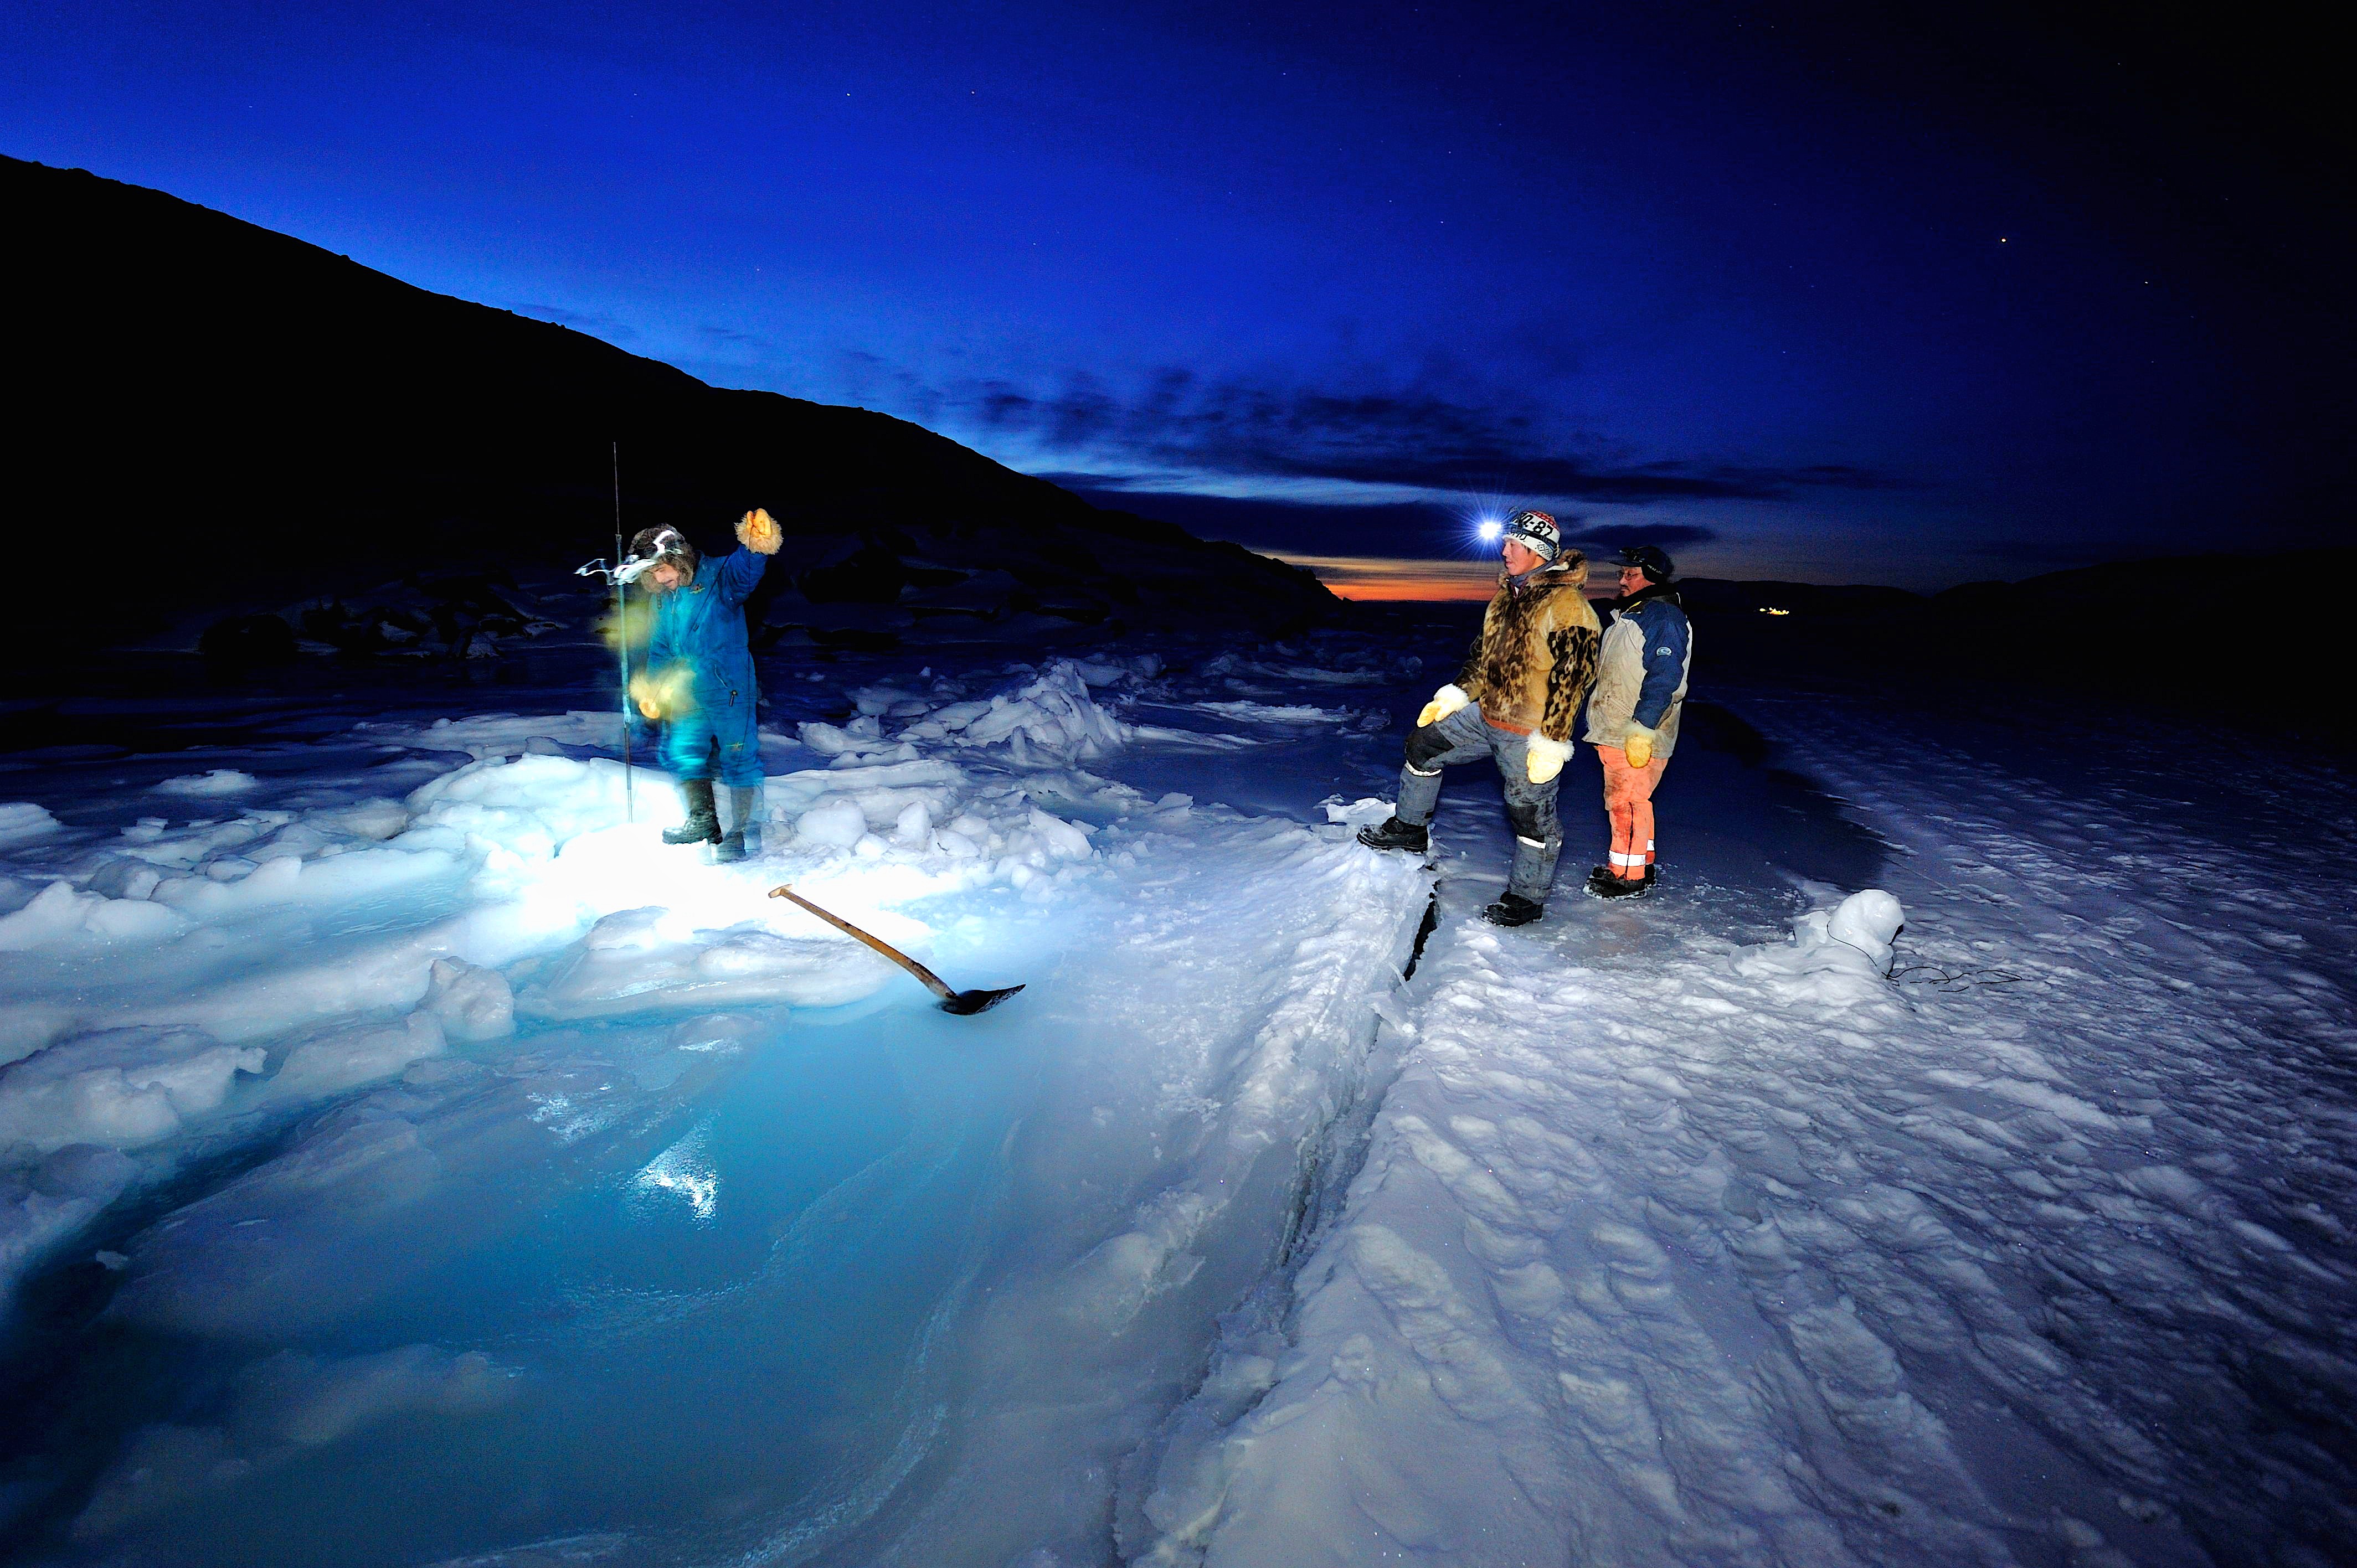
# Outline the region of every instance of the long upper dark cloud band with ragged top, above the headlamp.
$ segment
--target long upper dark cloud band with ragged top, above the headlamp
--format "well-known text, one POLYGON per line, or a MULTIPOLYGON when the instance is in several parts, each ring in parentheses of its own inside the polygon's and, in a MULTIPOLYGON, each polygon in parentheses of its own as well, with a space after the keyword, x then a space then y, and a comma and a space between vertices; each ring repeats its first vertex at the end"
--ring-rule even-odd
POLYGON ((1438 391, 1320 391, 1162 370, 1122 396, 1072 375, 1039 396, 990 380, 952 389, 950 406, 990 431, 1056 450, 1249 479, 1341 479, 1421 490, 1558 500, 1777 500, 1803 488, 1879 488, 1848 465, 1615 462, 1553 439, 1527 408, 1490 408, 1438 391))

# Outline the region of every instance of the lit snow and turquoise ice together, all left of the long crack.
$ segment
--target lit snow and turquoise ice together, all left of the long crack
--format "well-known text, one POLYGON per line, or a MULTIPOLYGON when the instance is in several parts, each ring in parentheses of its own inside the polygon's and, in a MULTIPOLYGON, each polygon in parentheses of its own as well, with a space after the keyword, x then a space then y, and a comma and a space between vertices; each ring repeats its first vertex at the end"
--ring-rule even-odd
POLYGON ((245 780, 210 816, 14 813, 0 1285, 101 1273, 108 1332, 184 1346, 193 1391, 134 1384, 153 1415, 35 1450, 0 1511, 68 1559, 507 1561, 629 1476, 599 1561, 1087 1554, 1294 1228, 1428 887, 1339 828, 1084 771, 1138 743, 1108 703, 1160 667, 860 689, 764 740, 738 868, 655 839, 653 776, 625 821, 592 712, 368 722, 335 762, 153 790, 245 780), (783 882, 1028 990, 929 1012, 783 882), (519 1297, 526 1259, 556 1278, 519 1297), (841 1276, 837 1320, 811 1287, 841 1276), (804 1353, 837 1415, 742 1365, 768 1342, 832 1346, 804 1353), (674 1424, 648 1401, 747 1386, 709 1443, 641 1443, 674 1424), (521 1514, 519 1460, 554 1467, 521 1514), (354 1464, 370 1488, 323 1481, 354 1464), (370 1528, 410 1544, 363 1549, 384 1488, 420 1504, 370 1528), (280 1495, 311 1500, 299 1544, 264 1528, 280 1495))

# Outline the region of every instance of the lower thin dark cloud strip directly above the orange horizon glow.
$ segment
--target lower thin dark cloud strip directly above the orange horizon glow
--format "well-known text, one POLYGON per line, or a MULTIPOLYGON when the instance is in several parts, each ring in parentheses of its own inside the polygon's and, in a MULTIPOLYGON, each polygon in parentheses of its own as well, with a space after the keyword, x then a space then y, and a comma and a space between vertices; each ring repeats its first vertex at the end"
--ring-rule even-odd
MULTIPOLYGON (((1235 540, 1247 549, 1280 554, 1450 559, 1490 554, 1494 545, 1473 540, 1471 521, 1431 502, 1320 505, 1296 500, 1240 500, 1230 495, 1183 495, 1129 490, 1101 474, 1042 474, 1098 507, 1136 512, 1209 540, 1235 540)), ((1645 528, 1579 528, 1565 538, 1596 554, 1619 545, 1678 549, 1718 538, 1711 528, 1664 523, 1645 528)))

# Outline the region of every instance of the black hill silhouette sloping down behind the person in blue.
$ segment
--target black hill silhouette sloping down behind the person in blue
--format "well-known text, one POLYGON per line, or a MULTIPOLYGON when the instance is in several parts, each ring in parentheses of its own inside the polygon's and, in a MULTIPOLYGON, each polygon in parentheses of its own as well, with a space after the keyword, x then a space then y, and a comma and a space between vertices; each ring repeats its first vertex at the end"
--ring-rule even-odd
POLYGON ((85 573, 19 594, 19 653, 608 554, 615 439, 632 528, 728 547, 766 505, 816 601, 1004 568, 1021 611, 1075 622, 1275 630, 1334 604, 903 420, 714 389, 163 191, 0 158, 0 207, 19 571, 85 573))

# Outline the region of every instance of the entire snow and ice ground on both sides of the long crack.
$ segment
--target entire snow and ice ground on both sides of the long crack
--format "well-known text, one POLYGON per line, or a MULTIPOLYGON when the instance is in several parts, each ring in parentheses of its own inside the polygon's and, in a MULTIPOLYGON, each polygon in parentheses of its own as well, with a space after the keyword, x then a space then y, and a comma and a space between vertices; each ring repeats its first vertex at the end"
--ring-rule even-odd
POLYGON ((735 868, 587 710, 0 804, 0 1292, 148 1346, 0 1561, 2341 1561, 2341 776, 2213 816, 2133 726, 2046 780, 1751 698, 1876 887, 1714 882, 1664 790, 1662 889, 1584 901, 1567 795, 1499 931, 1452 780, 1402 979, 1433 872, 1351 832, 1426 684, 865 679, 735 868), (931 1012, 780 882, 1025 993, 931 1012))

